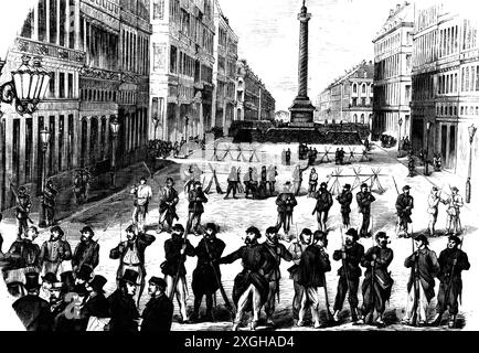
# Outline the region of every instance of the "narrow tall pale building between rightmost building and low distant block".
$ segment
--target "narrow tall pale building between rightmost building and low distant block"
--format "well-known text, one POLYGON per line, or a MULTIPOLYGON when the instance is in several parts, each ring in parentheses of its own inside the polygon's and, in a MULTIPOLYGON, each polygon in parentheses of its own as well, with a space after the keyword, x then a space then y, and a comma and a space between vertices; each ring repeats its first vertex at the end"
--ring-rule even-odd
POLYGON ((414 7, 404 2, 390 11, 373 40, 373 133, 386 132, 396 138, 411 133, 413 26, 414 7))

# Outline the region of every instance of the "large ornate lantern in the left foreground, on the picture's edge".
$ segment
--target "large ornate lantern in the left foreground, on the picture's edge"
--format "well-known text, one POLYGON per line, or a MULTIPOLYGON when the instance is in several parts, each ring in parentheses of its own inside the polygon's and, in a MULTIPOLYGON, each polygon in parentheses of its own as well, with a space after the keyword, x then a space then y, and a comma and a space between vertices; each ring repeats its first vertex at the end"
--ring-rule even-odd
MULTIPOLYGON (((36 107, 45 97, 49 89, 50 74, 42 67, 40 57, 33 58, 33 65, 30 65, 31 57, 22 56, 22 65, 12 72, 12 81, 0 86, 0 99, 2 103, 13 104, 17 113, 33 114, 36 107)), ((0 62, 0 73, 4 62, 0 62)))

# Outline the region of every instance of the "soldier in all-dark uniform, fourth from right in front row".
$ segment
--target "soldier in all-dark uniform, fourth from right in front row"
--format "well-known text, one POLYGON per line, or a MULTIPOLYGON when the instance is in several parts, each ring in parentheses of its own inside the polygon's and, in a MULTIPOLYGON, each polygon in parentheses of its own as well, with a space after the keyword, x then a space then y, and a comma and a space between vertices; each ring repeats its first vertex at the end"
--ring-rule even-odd
POLYGON ((364 255, 364 247, 358 243, 359 236, 354 228, 345 232, 344 244, 341 249, 336 250, 332 258, 336 261, 342 260, 342 266, 338 270, 338 292, 334 301, 334 321, 339 321, 339 313, 344 303, 345 295, 351 309, 352 321, 358 321, 358 288, 361 277, 360 263, 364 255))

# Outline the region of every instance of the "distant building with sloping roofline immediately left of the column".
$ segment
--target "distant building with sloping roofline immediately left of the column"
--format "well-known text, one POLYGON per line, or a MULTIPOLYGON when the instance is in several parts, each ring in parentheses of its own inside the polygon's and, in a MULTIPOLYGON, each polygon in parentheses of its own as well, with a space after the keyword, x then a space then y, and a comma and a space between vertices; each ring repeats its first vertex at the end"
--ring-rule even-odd
POLYGON ((251 69, 246 60, 236 66, 235 120, 274 120, 276 100, 264 83, 251 69))

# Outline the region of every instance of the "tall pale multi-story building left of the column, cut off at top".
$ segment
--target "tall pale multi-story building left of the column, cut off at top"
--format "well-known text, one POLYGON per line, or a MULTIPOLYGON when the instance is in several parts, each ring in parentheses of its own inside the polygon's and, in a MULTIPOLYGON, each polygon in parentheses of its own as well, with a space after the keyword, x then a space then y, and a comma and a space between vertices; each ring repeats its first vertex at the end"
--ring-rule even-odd
POLYGON ((202 136, 213 106, 213 0, 151 0, 151 6, 149 137, 202 136))

